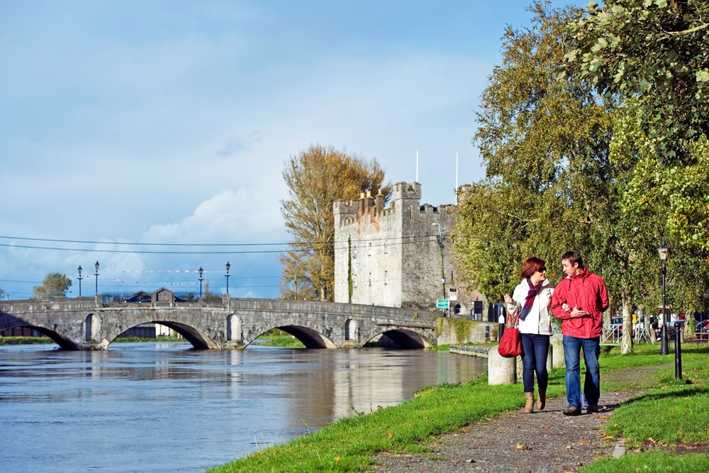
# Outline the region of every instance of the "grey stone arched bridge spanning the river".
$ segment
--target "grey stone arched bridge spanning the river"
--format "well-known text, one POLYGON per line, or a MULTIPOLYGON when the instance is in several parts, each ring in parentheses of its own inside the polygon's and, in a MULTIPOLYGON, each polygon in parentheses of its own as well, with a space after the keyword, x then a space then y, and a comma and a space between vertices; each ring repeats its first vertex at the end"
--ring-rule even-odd
POLYGON ((243 349, 274 328, 308 348, 359 348, 377 335, 396 347, 436 344, 436 314, 411 309, 277 299, 176 302, 155 291, 143 304, 104 304, 94 298, 0 301, 0 330, 27 327, 48 335, 64 350, 101 349, 129 328, 160 323, 197 349, 243 349), (164 296, 164 297, 163 297, 164 296))

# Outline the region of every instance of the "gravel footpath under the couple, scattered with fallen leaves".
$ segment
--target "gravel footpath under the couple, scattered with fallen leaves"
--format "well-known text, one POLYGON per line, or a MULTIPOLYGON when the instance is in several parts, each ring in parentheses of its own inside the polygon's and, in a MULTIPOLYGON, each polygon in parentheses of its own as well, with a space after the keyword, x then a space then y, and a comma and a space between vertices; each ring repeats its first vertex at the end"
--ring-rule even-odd
MULTIPOLYGON (((657 367, 619 370, 605 379, 637 380, 657 367)), ((625 454, 622 441, 605 438, 601 426, 613 411, 642 391, 603 391, 598 413, 564 416, 566 397, 547 399, 543 411, 518 411, 476 421, 462 430, 426 443, 431 452, 415 455, 382 453, 374 457, 376 473, 575 472, 606 455, 625 454)), ((520 399, 523 399, 520 384, 520 399)))

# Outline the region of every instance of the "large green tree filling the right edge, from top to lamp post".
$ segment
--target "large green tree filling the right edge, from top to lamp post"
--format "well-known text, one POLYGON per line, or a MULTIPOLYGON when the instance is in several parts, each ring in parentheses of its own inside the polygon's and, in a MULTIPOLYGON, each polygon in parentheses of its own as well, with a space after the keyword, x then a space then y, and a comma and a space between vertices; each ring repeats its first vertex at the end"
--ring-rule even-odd
POLYGON ((675 310, 700 310, 709 296, 709 3, 609 0, 567 32, 570 74, 623 101, 612 159, 630 170, 618 213, 653 223, 637 235, 673 249, 675 310))

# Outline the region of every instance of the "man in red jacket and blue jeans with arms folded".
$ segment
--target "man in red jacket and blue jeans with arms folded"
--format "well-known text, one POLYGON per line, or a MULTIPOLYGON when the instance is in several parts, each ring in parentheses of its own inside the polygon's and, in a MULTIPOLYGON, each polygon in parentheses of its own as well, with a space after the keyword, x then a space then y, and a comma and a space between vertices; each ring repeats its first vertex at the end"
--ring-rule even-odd
POLYGON ((552 295, 552 314, 562 319, 564 335, 564 358, 566 359, 566 399, 569 407, 565 416, 581 414, 581 375, 579 358, 584 349, 586 378, 584 396, 588 413, 598 412, 601 397, 601 369, 598 355, 601 353, 603 311, 608 308, 608 291, 603 279, 584 267, 581 253, 567 251, 562 255, 562 267, 566 277, 552 295))

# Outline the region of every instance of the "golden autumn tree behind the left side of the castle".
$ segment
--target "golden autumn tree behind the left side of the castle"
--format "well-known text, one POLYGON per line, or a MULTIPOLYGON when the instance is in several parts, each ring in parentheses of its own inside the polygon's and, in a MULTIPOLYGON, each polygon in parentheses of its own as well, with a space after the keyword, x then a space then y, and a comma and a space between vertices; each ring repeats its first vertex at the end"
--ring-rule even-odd
POLYGON ((367 161, 320 145, 291 156, 285 163, 283 178, 289 199, 281 201, 281 213, 293 241, 279 257, 283 265, 281 297, 332 301, 334 201, 357 199, 367 191, 381 191, 388 200, 391 186, 382 186, 384 171, 376 160, 367 161))

